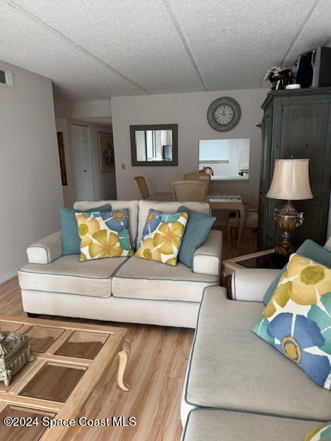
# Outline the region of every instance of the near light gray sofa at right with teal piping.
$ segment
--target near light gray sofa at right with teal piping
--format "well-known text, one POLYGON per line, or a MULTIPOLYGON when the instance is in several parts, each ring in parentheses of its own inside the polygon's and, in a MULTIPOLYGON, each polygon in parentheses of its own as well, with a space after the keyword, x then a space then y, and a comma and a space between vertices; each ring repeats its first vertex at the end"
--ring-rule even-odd
POLYGON ((303 441, 331 420, 330 391, 252 333, 277 272, 237 270, 233 300, 225 288, 205 289, 181 401, 183 441, 303 441))

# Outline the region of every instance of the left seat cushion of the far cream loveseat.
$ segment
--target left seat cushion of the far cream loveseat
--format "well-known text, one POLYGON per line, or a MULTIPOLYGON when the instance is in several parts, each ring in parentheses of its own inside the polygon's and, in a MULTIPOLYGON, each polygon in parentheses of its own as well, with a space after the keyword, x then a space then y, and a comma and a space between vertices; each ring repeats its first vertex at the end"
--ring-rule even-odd
POLYGON ((19 270, 19 285, 21 289, 34 291, 109 297, 112 275, 126 259, 116 257, 79 262, 79 256, 72 254, 48 265, 28 264, 19 270))

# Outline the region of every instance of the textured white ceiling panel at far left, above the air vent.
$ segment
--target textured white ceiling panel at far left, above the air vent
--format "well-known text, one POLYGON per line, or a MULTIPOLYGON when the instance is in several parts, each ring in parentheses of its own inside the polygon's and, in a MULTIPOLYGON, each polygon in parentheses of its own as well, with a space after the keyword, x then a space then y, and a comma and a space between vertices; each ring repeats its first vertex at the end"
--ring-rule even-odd
POLYGON ((0 59, 37 72, 86 96, 145 94, 39 21, 0 3, 0 59))

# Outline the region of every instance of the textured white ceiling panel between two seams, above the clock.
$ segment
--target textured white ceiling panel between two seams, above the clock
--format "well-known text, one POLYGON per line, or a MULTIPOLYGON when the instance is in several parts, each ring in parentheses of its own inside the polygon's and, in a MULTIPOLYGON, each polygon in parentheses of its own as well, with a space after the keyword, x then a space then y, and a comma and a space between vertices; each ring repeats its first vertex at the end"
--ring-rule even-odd
POLYGON ((316 2, 168 1, 210 90, 264 87, 316 2))

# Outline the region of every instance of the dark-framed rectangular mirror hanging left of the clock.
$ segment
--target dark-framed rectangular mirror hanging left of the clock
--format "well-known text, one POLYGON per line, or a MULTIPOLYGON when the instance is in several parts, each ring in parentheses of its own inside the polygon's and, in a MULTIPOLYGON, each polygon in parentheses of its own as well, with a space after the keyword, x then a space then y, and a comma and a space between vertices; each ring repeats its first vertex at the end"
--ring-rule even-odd
POLYGON ((131 163, 178 165, 178 125, 130 125, 131 163))

